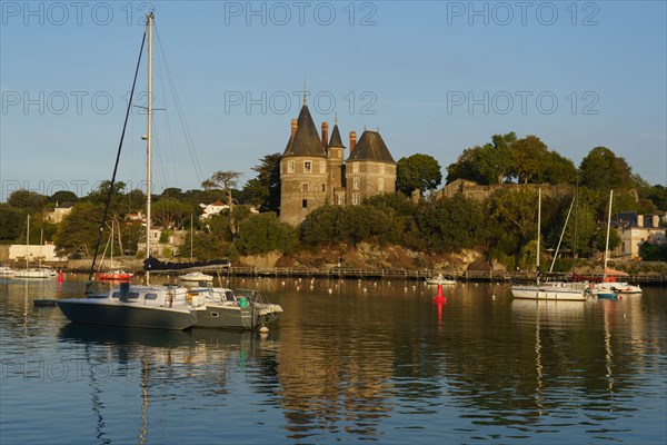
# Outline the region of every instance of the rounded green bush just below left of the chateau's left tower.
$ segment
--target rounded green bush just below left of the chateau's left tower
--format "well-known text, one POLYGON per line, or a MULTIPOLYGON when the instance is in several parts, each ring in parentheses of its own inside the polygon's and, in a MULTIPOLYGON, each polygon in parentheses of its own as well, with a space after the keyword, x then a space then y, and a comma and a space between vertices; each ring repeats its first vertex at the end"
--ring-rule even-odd
POLYGON ((297 238, 297 229, 281 222, 271 211, 245 218, 239 225, 239 236, 235 244, 243 255, 263 255, 270 251, 285 254, 295 248, 297 238))

